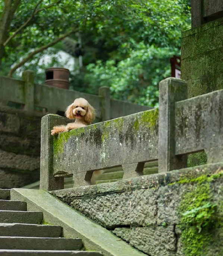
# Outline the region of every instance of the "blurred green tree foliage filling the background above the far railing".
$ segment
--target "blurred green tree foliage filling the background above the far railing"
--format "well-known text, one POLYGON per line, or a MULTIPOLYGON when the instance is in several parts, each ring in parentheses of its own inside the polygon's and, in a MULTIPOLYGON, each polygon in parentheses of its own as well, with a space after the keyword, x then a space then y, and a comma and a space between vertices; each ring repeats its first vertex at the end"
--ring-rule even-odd
MULTIPOLYGON (((7 36, 31 17, 36 4, 21 0, 7 36)), ((98 87, 106 85, 115 99, 158 106, 158 83, 170 76, 169 59, 180 55, 181 30, 190 28, 188 0, 43 0, 37 9, 41 11, 5 47, 0 74, 75 27, 82 36, 85 67, 72 74, 73 89, 98 94, 98 87), (56 4, 48 8, 52 3, 56 4)), ((76 34, 72 38, 78 39, 76 34)), ((48 53, 59 49, 65 49, 62 43, 48 53)), ((34 70, 36 81, 43 83, 45 68, 66 67, 56 57, 48 65, 41 63, 45 53, 38 53, 20 71, 34 70)))

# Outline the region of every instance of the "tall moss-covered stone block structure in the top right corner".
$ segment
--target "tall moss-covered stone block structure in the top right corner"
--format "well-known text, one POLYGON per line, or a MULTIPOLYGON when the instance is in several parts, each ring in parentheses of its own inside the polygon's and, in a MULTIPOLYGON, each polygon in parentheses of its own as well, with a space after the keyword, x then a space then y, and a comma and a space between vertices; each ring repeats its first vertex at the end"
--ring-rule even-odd
POLYGON ((223 89, 223 1, 192 0, 192 29, 182 33, 181 78, 188 98, 223 89))

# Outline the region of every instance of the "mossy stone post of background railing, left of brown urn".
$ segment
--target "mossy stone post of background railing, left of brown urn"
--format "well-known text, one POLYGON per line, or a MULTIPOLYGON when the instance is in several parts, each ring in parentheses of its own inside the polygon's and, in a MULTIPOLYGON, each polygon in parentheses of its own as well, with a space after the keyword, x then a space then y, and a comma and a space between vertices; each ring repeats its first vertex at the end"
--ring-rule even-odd
POLYGON ((22 79, 25 81, 25 107, 24 110, 34 111, 34 72, 26 70, 22 73, 22 79))

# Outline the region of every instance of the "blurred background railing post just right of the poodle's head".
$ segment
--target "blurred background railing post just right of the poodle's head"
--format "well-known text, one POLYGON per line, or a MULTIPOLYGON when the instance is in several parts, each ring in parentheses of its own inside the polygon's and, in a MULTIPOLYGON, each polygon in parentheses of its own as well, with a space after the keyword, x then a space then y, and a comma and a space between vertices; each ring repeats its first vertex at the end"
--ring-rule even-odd
POLYGON ((111 119, 110 88, 107 86, 100 87, 98 90, 98 95, 100 98, 101 119, 102 121, 110 120, 111 119))

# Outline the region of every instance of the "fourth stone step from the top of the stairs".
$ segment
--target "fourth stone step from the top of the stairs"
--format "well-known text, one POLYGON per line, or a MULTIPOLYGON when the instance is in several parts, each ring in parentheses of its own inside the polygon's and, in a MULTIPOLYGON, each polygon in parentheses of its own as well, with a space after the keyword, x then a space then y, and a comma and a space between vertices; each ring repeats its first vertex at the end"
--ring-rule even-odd
POLYGON ((60 237, 62 227, 27 223, 0 223, 1 236, 60 237))

